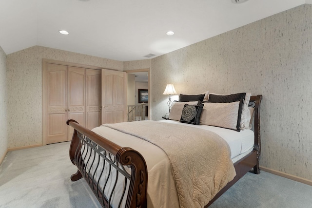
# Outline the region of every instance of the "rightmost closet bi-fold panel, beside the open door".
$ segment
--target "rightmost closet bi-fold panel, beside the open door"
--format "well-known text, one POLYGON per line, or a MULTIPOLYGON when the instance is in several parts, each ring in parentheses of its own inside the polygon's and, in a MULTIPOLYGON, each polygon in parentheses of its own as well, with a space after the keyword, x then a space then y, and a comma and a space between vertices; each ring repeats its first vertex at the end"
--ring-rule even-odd
POLYGON ((86 69, 86 128, 101 125, 101 71, 86 69))

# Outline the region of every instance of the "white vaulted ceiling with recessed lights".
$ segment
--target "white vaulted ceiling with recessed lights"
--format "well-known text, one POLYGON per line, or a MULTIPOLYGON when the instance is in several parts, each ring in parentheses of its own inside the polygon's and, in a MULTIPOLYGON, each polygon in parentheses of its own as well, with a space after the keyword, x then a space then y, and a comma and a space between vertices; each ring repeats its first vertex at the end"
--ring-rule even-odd
POLYGON ((304 3, 312 0, 0 0, 0 47, 6 54, 39 45, 147 59, 304 3))

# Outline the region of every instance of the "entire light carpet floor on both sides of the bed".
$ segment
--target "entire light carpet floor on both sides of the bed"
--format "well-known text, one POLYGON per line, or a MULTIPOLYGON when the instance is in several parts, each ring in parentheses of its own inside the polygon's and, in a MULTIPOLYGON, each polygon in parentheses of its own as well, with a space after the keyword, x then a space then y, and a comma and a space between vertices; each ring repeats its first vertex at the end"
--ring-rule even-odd
MULTIPOLYGON (((0 166, 0 208, 100 208, 77 169, 69 142, 8 152, 0 166)), ((247 173, 211 208, 312 208, 312 186, 261 171, 247 173)))

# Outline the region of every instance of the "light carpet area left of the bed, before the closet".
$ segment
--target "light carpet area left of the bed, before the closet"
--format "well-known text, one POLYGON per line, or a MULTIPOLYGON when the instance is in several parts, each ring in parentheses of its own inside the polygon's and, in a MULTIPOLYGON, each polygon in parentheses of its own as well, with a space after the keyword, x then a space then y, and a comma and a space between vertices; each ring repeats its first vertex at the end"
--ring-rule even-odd
POLYGON ((0 208, 100 208, 88 184, 72 182, 70 142, 7 153, 0 166, 0 208))

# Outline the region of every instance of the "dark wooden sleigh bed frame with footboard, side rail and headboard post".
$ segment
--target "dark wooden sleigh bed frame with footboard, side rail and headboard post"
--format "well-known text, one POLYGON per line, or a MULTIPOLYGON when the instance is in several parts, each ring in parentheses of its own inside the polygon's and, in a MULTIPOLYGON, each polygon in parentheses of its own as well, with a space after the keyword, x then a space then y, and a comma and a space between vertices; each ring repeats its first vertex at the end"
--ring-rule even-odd
MULTIPOLYGON (((220 197, 250 170, 253 169, 255 174, 260 173, 259 158, 261 152, 261 140, 259 109, 261 100, 262 95, 256 95, 251 96, 249 102, 249 106, 254 107, 254 150, 234 163, 236 176, 215 195, 215 197, 205 206, 205 208, 209 207, 218 197, 220 197)), ((82 127, 74 120, 67 120, 66 123, 74 128, 69 155, 72 163, 78 168, 77 172, 71 176, 71 180, 77 181, 84 177, 90 188, 93 190, 95 196, 98 198, 100 204, 105 208, 111 208, 112 193, 107 194, 104 189, 108 178, 118 178, 118 175, 122 175, 126 185, 120 195, 119 205, 123 200, 123 202, 125 202, 125 208, 146 208, 148 175, 147 166, 143 156, 132 148, 118 146, 110 140, 99 136, 97 133, 82 127), (81 152, 86 152, 85 155, 89 156, 82 156, 81 152), (93 153, 91 154, 90 152, 93 153), (95 155, 97 155, 97 157, 95 155), (100 179, 95 176, 97 175, 95 174, 96 170, 99 169, 96 164, 97 161, 99 162, 100 157, 102 160, 105 160, 107 167, 109 167, 109 170, 106 170, 104 167, 100 170, 100 179, 103 180, 104 177, 107 177, 104 179, 104 185, 100 185, 100 179), (88 166, 93 166, 94 168, 90 169, 88 166), (131 171, 126 170, 127 168, 125 169, 125 167, 131 171), (112 170, 118 172, 118 174, 116 174, 117 176, 112 176, 112 170), (105 171, 109 172, 105 173, 105 171)), ((113 184, 114 190, 117 184, 117 179, 113 182, 113 184)))

